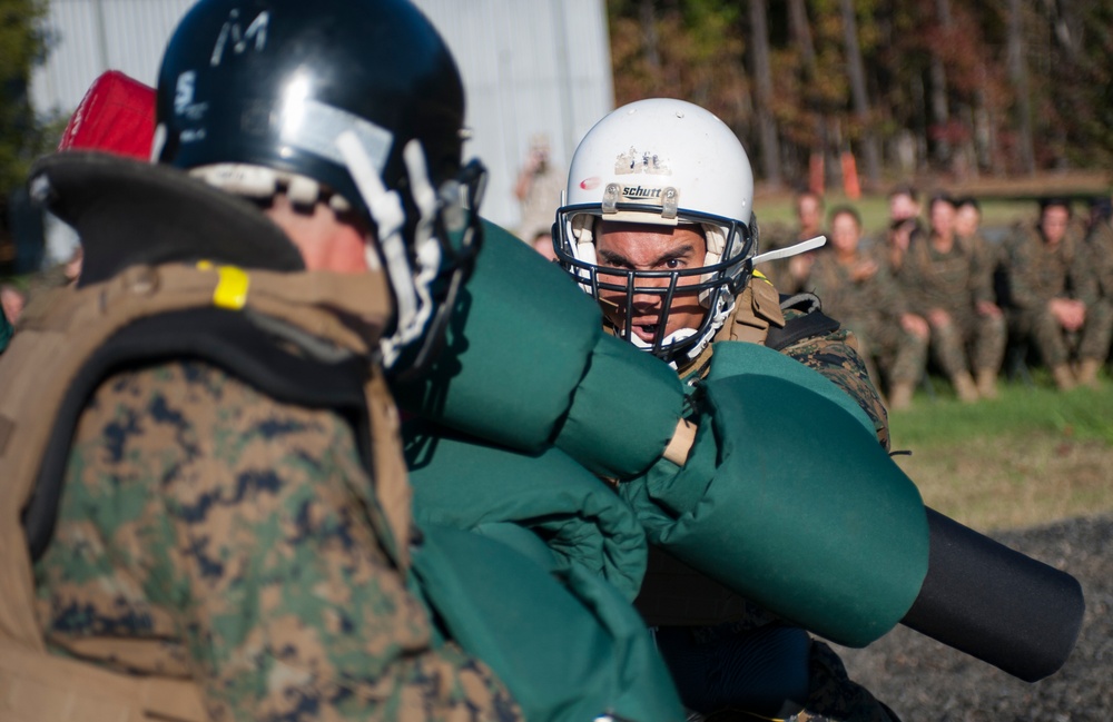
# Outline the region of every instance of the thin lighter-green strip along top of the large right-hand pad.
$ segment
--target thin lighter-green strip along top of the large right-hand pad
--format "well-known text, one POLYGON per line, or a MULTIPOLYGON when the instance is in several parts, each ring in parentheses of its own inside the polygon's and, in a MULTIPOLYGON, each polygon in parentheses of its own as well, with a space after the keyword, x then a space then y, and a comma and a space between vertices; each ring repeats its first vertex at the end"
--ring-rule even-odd
POLYGON ((715 353, 711 355, 711 366, 707 373, 707 380, 728 378, 738 374, 784 378, 804 388, 814 390, 849 412, 870 434, 876 434, 877 429, 874 427, 874 422, 866 415, 861 406, 858 406, 857 402, 849 394, 816 369, 809 368, 780 352, 758 344, 746 344, 742 342, 719 342, 715 344, 715 353), (786 359, 789 359, 791 363, 785 363, 786 359))

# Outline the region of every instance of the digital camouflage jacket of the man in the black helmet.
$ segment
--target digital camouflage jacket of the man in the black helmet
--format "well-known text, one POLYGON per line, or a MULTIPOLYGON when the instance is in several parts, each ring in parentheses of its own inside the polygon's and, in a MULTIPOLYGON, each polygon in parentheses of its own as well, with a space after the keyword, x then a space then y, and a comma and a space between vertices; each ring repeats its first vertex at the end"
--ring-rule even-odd
POLYGON ((36 564, 50 650, 194 676, 215 720, 514 720, 378 535, 348 425, 196 362, 101 384, 36 564))

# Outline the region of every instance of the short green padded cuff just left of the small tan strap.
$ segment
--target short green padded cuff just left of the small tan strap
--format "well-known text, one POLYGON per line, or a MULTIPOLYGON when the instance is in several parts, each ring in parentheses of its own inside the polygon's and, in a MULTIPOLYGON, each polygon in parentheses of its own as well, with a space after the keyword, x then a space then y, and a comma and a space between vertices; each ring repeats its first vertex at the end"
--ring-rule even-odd
POLYGON ((683 403, 672 367, 602 334, 555 445, 595 474, 628 478, 660 458, 683 403))

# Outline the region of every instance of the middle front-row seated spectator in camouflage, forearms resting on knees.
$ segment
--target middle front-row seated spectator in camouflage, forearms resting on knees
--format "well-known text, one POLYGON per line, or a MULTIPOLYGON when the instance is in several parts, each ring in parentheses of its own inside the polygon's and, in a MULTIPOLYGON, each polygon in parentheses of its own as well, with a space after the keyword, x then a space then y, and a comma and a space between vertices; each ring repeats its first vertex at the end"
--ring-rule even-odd
POLYGON ((993 398, 1006 342, 1005 316, 994 303, 993 266, 984 250, 955 233, 949 196, 935 196, 929 215, 926 243, 909 249, 902 268, 912 310, 930 325, 935 362, 958 398, 993 398))

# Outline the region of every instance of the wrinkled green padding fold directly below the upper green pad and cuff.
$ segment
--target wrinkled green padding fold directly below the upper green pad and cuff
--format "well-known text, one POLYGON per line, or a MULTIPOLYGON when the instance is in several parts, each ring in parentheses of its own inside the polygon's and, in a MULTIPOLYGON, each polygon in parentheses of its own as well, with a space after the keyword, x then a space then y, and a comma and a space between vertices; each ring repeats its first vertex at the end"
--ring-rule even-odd
MULTIPOLYGON (((417 422, 403 426, 403 438, 420 522, 465 530, 519 524, 544 540, 556 570, 579 565, 627 601, 637 596, 646 574, 646 533, 630 507, 567 454, 552 447, 518 453, 417 422)), ((510 541, 504 528, 485 533, 510 541)))

